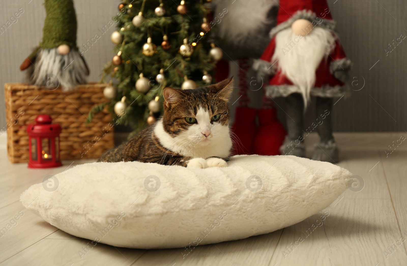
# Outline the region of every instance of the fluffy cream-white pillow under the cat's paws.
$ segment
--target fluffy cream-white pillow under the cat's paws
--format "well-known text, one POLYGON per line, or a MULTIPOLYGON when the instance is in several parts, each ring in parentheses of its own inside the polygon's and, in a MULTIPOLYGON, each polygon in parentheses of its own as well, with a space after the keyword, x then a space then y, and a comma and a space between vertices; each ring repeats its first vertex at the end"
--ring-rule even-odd
POLYGON ((119 247, 175 248, 298 223, 331 204, 351 176, 331 163, 294 156, 235 156, 228 165, 88 163, 31 186, 20 200, 74 236, 119 247))

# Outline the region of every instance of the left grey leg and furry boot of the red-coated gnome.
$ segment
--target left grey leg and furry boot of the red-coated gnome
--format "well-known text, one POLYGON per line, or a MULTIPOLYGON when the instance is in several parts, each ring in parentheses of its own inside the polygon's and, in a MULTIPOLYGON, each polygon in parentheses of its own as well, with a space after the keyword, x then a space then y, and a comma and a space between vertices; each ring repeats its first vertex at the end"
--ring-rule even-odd
POLYGON ((299 93, 290 94, 285 98, 287 113, 287 131, 284 144, 280 147, 281 155, 305 157, 304 138, 304 101, 299 93))

